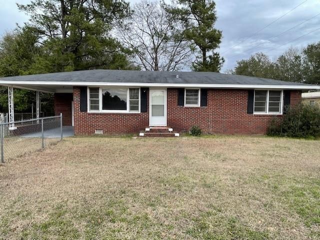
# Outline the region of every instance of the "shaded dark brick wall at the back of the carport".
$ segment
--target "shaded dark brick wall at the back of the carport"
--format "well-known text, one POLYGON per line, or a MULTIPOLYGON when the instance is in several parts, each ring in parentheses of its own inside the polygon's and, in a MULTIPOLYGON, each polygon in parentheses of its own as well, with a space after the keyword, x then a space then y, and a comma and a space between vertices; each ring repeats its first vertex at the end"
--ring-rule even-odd
POLYGON ((72 125, 71 102, 72 93, 54 93, 54 113, 62 113, 62 124, 65 126, 72 125))

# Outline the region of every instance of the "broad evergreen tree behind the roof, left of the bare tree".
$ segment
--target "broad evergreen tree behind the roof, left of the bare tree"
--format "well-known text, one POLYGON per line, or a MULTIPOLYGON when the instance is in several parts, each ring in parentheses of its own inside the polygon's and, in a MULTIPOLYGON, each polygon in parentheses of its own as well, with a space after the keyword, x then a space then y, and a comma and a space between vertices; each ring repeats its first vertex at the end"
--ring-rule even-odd
POLYGON ((126 51, 111 36, 115 24, 130 13, 123 0, 31 0, 18 4, 30 15, 26 26, 43 45, 30 73, 94 68, 127 68, 126 51))

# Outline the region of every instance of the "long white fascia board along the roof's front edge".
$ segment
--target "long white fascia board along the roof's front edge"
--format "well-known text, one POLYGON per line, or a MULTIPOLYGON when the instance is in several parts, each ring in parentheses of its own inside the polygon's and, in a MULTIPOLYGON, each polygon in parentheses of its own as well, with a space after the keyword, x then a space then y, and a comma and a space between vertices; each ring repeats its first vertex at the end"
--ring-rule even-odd
POLYGON ((320 86, 304 85, 253 85, 253 84, 195 84, 195 83, 143 83, 143 82, 72 82, 72 81, 0 81, 9 85, 55 85, 55 86, 140 86, 140 87, 197 87, 197 88, 233 88, 233 89, 320 89, 320 86))

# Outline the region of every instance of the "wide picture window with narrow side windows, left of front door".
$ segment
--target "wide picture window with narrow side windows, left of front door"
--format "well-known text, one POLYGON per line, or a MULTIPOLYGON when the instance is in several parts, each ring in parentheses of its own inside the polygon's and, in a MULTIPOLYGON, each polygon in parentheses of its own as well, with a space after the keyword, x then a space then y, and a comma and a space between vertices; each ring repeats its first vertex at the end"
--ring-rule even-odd
POLYGON ((89 112, 139 112, 139 88, 89 88, 89 112))

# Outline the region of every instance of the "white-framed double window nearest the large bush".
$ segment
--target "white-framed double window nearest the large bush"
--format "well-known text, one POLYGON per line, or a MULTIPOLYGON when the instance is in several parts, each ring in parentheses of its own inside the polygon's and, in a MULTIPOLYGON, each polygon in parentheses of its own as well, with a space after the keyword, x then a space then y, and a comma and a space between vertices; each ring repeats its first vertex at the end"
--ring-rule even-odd
POLYGON ((255 90, 255 114, 282 114, 282 91, 255 90))

